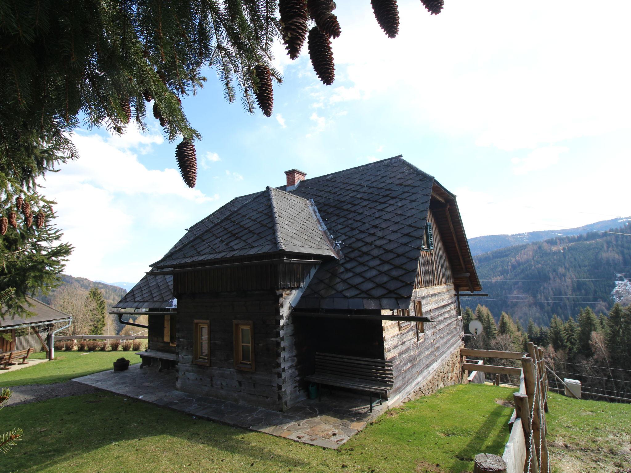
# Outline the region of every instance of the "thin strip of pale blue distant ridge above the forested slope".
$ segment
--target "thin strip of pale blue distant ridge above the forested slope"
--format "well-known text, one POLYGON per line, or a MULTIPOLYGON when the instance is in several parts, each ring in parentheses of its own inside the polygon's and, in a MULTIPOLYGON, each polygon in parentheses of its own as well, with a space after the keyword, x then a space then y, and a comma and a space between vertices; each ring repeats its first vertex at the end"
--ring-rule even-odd
POLYGON ((610 230, 611 228, 623 226, 630 221, 631 217, 612 218, 565 230, 527 231, 526 233, 513 233, 512 235, 485 235, 483 237, 469 238, 469 248, 471 248, 471 254, 474 256, 481 255, 500 248, 523 245, 524 243, 543 242, 543 240, 548 240, 548 238, 585 235, 589 231, 594 230, 610 230))

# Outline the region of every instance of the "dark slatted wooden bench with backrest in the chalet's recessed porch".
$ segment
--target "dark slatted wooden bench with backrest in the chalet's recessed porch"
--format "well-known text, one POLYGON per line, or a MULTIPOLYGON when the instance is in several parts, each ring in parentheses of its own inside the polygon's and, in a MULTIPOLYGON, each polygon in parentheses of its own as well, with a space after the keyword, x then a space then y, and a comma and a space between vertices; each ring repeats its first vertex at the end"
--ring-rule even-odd
POLYGON ((387 395, 394 386, 392 361, 332 353, 315 353, 315 372, 305 379, 313 383, 368 392, 370 412, 377 402, 381 404, 382 394, 387 395), (375 402, 372 402, 373 395, 379 397, 375 402))

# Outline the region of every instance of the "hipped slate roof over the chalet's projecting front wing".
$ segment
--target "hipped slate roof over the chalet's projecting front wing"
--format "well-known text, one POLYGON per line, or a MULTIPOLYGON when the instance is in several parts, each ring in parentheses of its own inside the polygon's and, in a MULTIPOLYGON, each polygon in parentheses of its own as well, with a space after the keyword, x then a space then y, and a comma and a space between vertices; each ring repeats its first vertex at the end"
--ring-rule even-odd
POLYGON ((196 226, 195 235, 152 266, 274 252, 338 257, 313 202, 289 192, 268 187, 228 213, 222 207, 220 214, 223 218, 207 219, 204 228, 196 226))

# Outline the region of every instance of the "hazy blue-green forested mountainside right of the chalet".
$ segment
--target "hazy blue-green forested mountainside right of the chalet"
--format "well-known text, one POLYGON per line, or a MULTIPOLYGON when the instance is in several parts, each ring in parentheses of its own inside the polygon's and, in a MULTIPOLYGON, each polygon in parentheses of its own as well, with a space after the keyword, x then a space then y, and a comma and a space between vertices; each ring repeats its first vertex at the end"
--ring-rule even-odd
POLYGON ((475 257, 488 298, 463 298, 463 305, 486 305, 493 315, 509 312, 523 325, 529 318, 548 326, 581 307, 597 314, 613 305, 616 279, 631 276, 631 226, 623 235, 592 232, 502 248, 475 257))

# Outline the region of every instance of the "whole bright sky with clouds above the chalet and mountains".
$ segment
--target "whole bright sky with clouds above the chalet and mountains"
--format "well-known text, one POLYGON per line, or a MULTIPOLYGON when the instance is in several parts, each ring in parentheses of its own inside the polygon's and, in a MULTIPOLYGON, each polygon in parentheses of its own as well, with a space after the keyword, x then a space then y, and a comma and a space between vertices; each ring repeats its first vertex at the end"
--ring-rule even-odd
POLYGON ((628 1, 449 0, 430 16, 399 1, 400 33, 368 0, 338 1, 336 80, 324 86, 306 45, 278 45, 274 114, 229 104, 215 71, 184 111, 203 136, 198 184, 177 172, 175 143, 74 134, 81 158, 42 184, 76 247, 66 272, 137 281, 184 229, 233 197, 396 155, 458 196, 468 237, 552 230, 631 214, 628 1))

